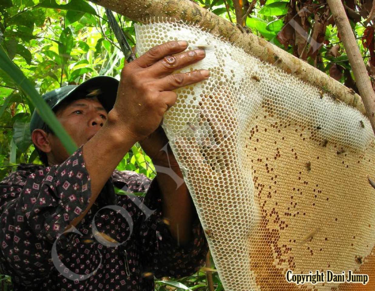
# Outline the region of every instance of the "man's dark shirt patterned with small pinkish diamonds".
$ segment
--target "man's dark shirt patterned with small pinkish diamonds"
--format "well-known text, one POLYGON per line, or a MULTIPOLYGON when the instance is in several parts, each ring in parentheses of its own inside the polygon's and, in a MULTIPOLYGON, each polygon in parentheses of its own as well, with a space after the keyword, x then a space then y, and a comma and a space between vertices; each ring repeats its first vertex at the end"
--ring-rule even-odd
POLYGON ((202 266, 208 246, 199 220, 179 246, 162 219, 157 179, 132 171, 115 170, 77 227, 62 234, 87 208, 90 185, 82 148, 60 165, 21 164, 0 183, 0 273, 15 291, 151 291, 154 276, 179 278, 202 266), (116 195, 114 186, 146 195, 116 195))

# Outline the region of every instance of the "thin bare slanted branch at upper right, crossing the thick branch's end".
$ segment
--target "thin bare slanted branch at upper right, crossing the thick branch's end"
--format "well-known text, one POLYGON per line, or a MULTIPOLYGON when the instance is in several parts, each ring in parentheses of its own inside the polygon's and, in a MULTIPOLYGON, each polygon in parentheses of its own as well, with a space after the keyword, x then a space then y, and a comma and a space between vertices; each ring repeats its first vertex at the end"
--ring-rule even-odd
POLYGON ((335 19, 337 30, 341 35, 342 44, 347 52, 359 94, 362 96, 362 101, 366 108, 366 115, 370 119, 372 130, 375 133, 375 92, 372 88, 356 38, 341 0, 327 0, 327 2, 335 19))

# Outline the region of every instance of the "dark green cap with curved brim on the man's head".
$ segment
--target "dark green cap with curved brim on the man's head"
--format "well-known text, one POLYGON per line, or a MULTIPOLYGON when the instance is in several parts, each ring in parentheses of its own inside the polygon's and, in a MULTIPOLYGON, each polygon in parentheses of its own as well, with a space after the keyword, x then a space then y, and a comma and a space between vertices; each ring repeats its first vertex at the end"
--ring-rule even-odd
MULTIPOLYGON (((42 96, 46 103, 54 109, 63 100, 76 100, 90 96, 95 93, 95 97, 98 98, 102 106, 110 112, 115 104, 117 96, 118 81, 115 78, 109 76, 97 76, 91 78, 80 85, 67 85, 61 88, 52 90, 42 96), (98 90, 99 89, 99 90, 98 90)), ((39 116, 35 109, 30 120, 30 133, 34 129, 42 128, 45 122, 39 116)))

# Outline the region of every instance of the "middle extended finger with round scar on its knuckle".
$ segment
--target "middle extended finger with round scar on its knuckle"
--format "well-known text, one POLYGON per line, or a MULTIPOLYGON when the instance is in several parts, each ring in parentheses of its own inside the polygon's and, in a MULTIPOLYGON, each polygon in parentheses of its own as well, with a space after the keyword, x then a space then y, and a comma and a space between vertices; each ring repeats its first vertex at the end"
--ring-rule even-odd
POLYGON ((175 70, 182 69, 190 64, 196 63, 205 57, 203 49, 182 52, 178 55, 168 55, 157 61, 147 70, 155 78, 163 78, 175 70))

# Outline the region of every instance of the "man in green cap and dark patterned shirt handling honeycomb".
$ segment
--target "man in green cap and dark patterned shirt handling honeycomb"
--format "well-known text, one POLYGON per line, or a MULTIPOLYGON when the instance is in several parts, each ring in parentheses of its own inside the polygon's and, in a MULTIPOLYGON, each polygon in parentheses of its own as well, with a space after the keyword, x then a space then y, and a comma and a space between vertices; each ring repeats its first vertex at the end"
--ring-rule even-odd
POLYGON ((207 70, 171 74, 205 56, 186 48, 150 49, 124 66, 119 83, 97 77, 44 96, 79 148, 69 156, 34 113, 32 140, 46 167, 22 164, 0 184, 0 273, 14 290, 151 291, 153 275, 186 276, 203 263, 207 242, 186 185, 176 190, 162 172, 150 184, 115 170, 140 141, 154 165, 182 177, 170 149, 160 151, 159 126, 172 90, 208 78, 207 70), (147 190, 144 204, 115 195, 114 185, 147 190))

